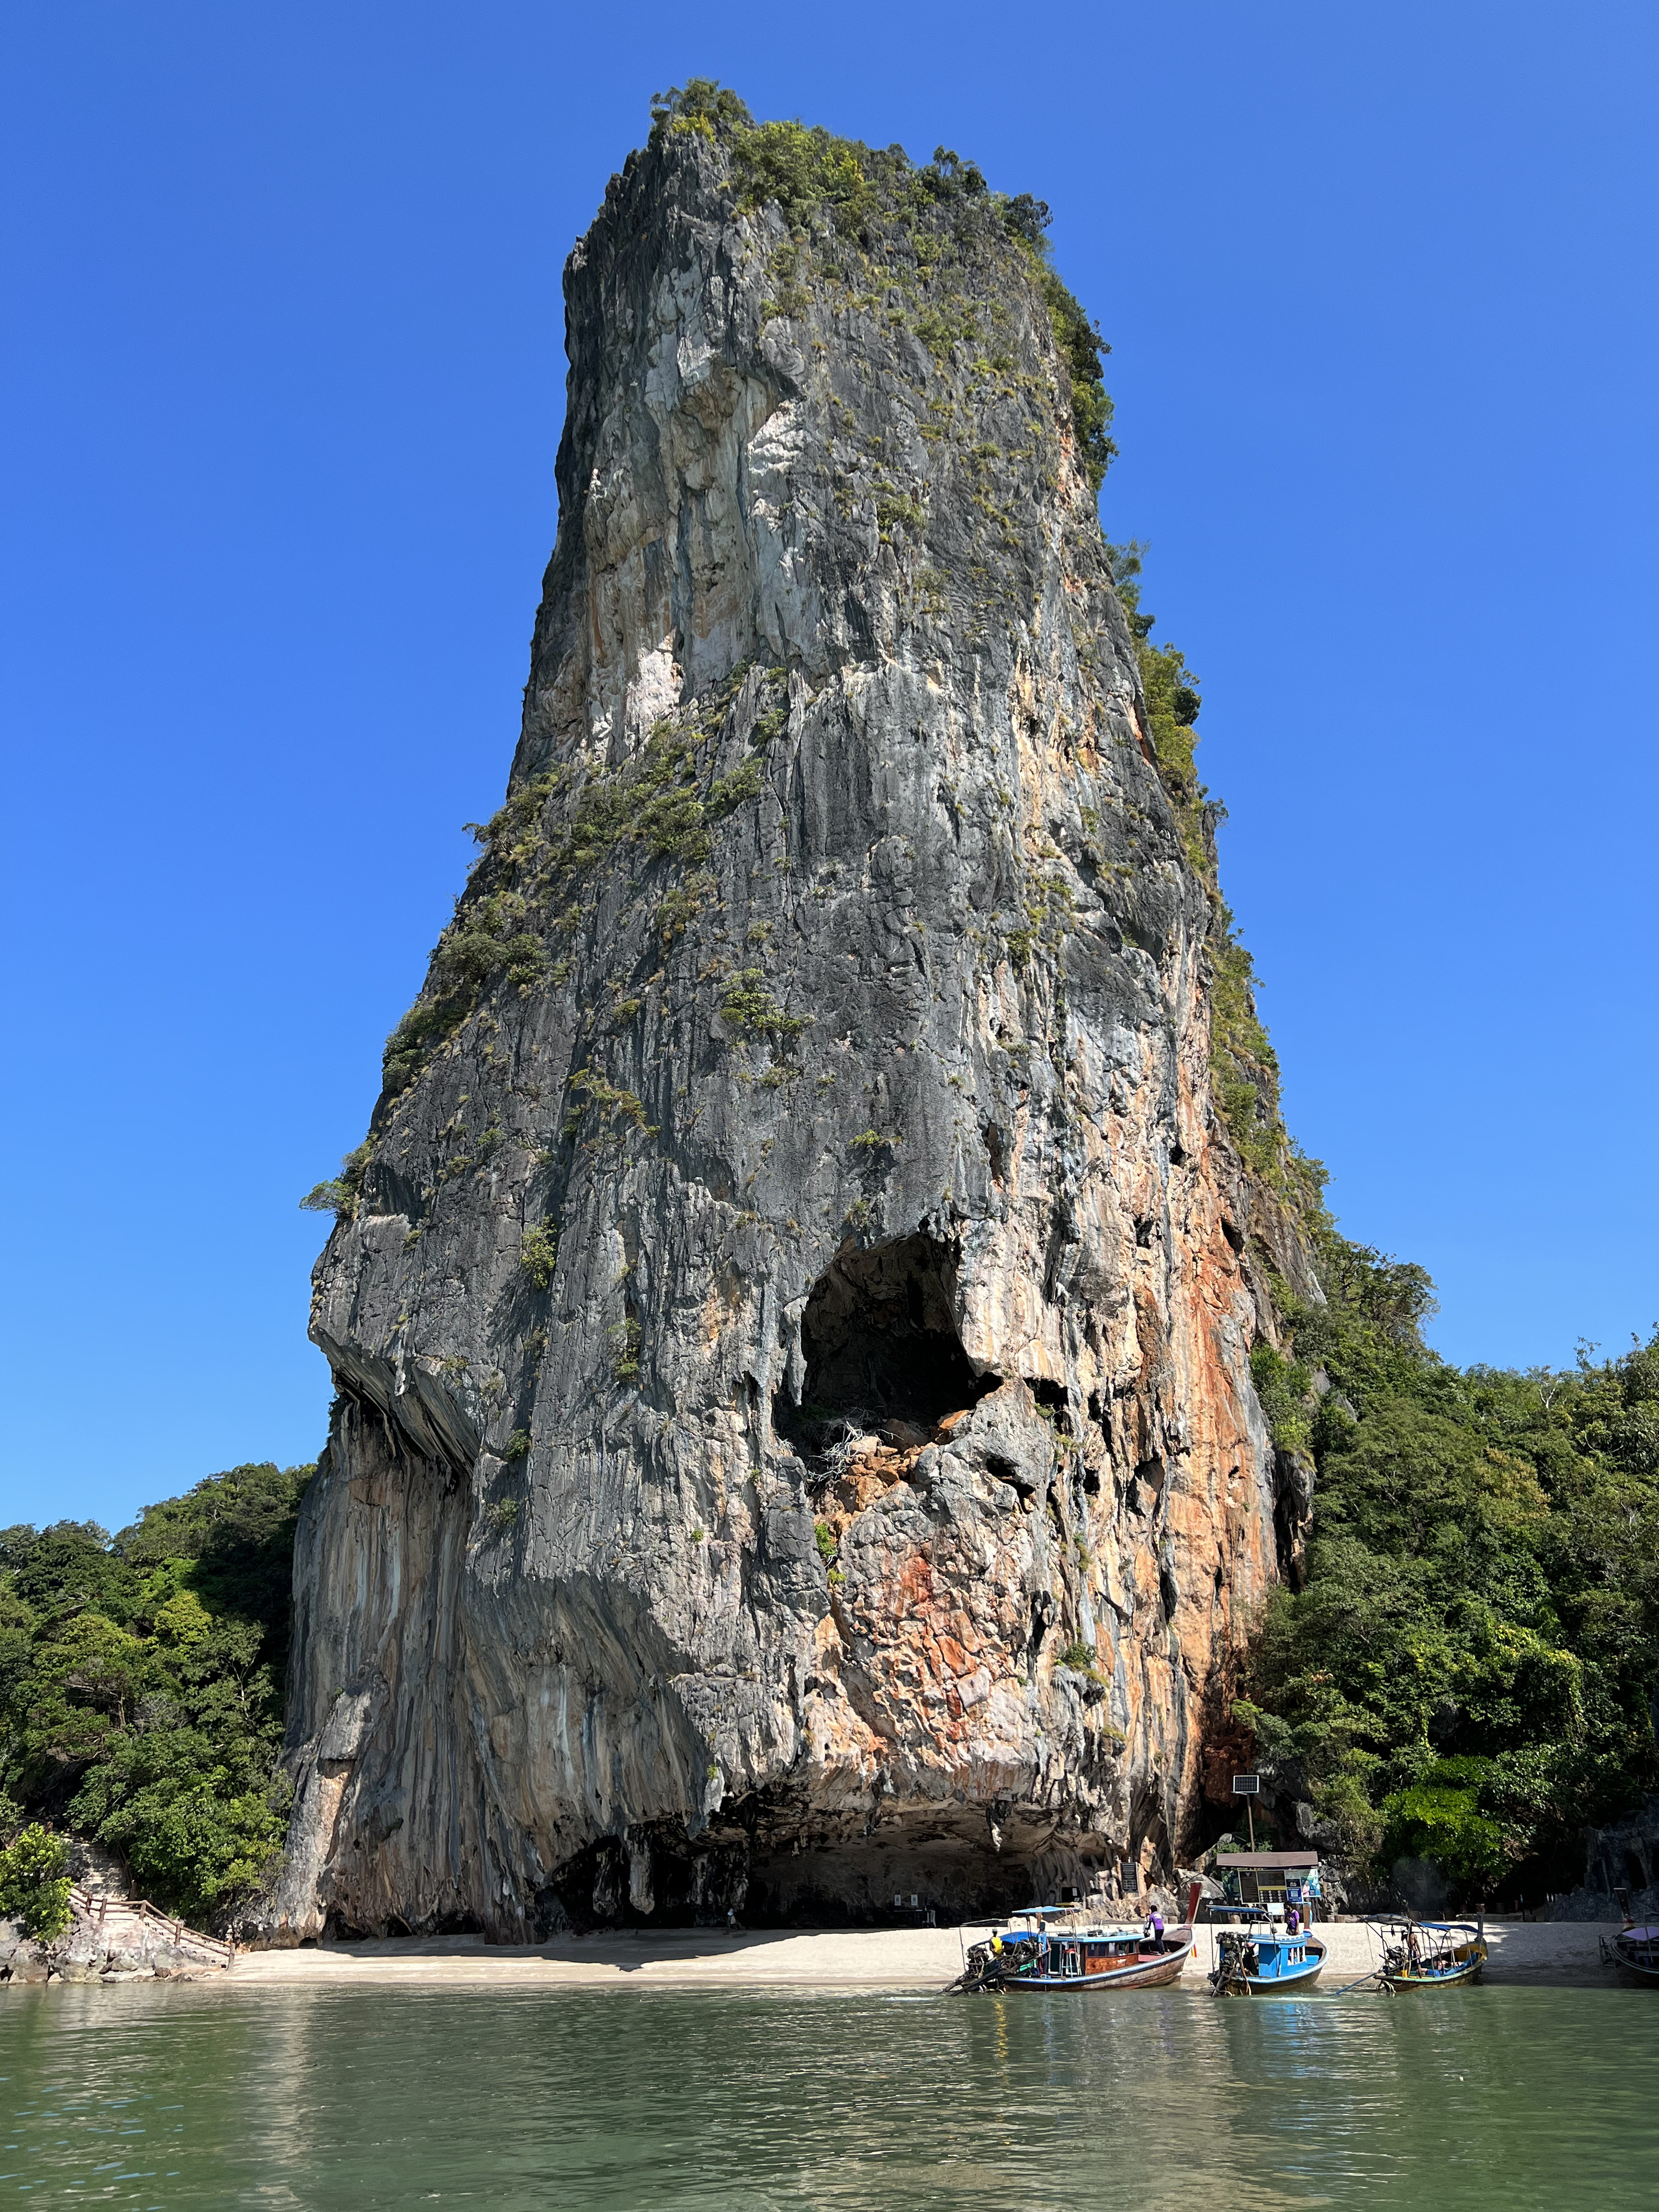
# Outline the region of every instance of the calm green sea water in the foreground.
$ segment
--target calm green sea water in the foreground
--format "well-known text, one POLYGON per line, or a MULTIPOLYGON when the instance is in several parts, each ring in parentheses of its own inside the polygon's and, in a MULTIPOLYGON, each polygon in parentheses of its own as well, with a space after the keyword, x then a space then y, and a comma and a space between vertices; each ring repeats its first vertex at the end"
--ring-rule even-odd
POLYGON ((0 2201, 1655 2203, 1659 1993, 15 1989, 0 2201))

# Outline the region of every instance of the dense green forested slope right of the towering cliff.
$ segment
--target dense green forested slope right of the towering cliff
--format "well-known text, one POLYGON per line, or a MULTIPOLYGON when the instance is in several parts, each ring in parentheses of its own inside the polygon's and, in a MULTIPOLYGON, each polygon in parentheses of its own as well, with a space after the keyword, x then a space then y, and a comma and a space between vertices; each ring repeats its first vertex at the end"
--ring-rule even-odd
POLYGON ((1659 1336, 1462 1371, 1422 1345, 1420 1267, 1318 1241, 1329 1303, 1290 1303, 1294 1358, 1254 1363, 1318 1467, 1312 1542, 1239 1714, 1356 1860, 1564 1887, 1584 1825, 1659 1787, 1659 1336))

